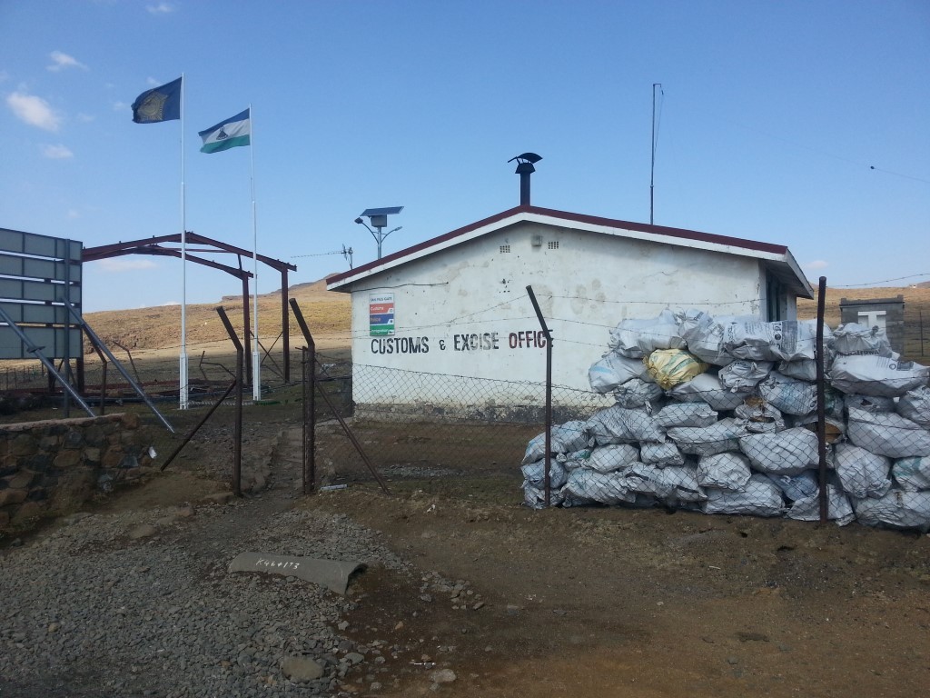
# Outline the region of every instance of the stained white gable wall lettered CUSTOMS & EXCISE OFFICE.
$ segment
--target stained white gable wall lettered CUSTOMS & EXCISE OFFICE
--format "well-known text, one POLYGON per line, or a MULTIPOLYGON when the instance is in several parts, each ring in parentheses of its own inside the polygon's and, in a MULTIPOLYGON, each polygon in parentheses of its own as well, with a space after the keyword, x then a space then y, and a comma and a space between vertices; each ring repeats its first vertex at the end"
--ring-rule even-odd
POLYGON ((356 402, 538 404, 538 391, 520 385, 545 379, 545 341, 526 286, 553 332, 553 383, 584 392, 588 369, 622 319, 666 307, 764 313, 756 259, 523 221, 355 283, 356 402), (372 337, 369 301, 383 293, 393 294, 395 333, 372 337), (374 379, 371 367, 392 370, 374 379))

